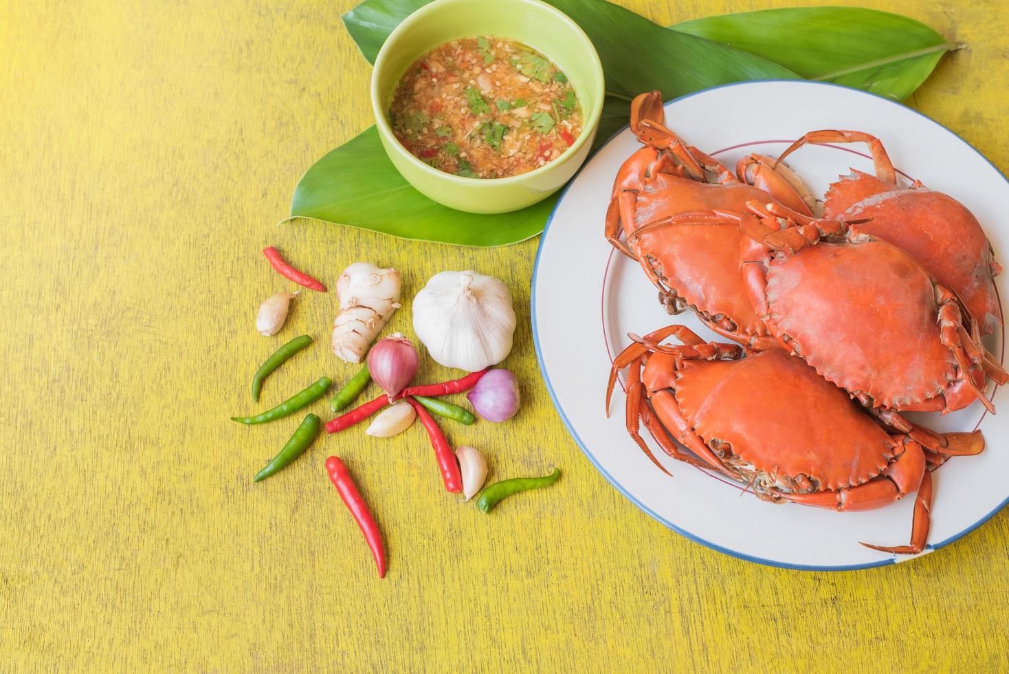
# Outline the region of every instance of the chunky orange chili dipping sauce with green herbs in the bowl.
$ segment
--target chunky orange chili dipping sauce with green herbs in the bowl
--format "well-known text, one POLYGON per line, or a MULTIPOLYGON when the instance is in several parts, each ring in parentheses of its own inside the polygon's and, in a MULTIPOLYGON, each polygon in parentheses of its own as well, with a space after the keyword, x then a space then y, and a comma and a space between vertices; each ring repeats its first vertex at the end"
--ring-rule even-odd
POLYGON ((581 133, 564 73, 501 37, 464 37, 429 51, 400 81, 388 117, 413 154, 466 178, 539 168, 581 133))

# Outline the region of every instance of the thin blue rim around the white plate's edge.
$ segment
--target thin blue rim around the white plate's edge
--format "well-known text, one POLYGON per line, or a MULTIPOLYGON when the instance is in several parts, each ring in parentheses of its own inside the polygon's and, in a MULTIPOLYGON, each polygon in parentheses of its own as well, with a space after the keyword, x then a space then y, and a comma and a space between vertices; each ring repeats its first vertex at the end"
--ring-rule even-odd
MULTIPOLYGON (((871 92, 863 91, 861 89, 855 89, 853 87, 844 87, 842 85, 833 84, 833 83, 830 83, 830 82, 814 82, 814 81, 811 81, 811 80, 747 80, 745 82, 733 82, 733 83, 730 83, 730 84, 718 85, 716 87, 708 87, 707 89, 701 89, 699 91, 691 92, 689 94, 684 94, 683 96, 680 96, 680 97, 677 97, 677 98, 674 98, 674 99, 670 99, 669 101, 665 101, 662 105, 663 105, 663 107, 665 107, 665 106, 669 105, 670 103, 675 103, 676 101, 682 101, 684 99, 688 99, 688 98, 691 98, 693 96, 697 96, 698 94, 704 94, 706 92, 714 91, 716 89, 725 89, 727 87, 740 87, 740 86, 745 86, 745 85, 753 85, 753 84, 761 84, 761 83, 776 83, 776 82, 788 82, 788 83, 801 82, 801 83, 804 83, 804 84, 818 85, 818 86, 822 86, 822 87, 834 87, 836 89, 847 89, 849 91, 854 91, 854 92, 858 92, 860 94, 865 94, 866 96, 872 96, 874 98, 878 98, 878 99, 881 99, 883 101, 886 101, 887 103, 891 103, 893 105, 900 106, 901 108, 904 108, 905 110, 909 110, 909 111, 913 112, 914 114, 918 115, 919 117, 924 118, 925 120, 931 122, 932 124, 935 124, 936 126, 938 126, 938 127, 942 128, 943 130, 947 131, 948 133, 951 133, 952 135, 955 135, 957 138, 960 139, 961 142, 963 142, 965 145, 967 145, 972 150, 974 150, 974 152, 978 156, 980 156, 992 168, 994 168, 996 171, 996 173, 998 173, 999 176, 1002 177, 1002 180, 1006 181, 1006 183, 1009 183, 1009 179, 1007 179, 1005 177, 1005 175, 999 170, 999 167, 996 166, 994 163, 992 163, 992 161, 987 156, 985 156, 984 154, 982 154, 981 151, 977 147, 975 147, 971 143, 967 142, 967 140, 965 140, 959 133, 957 133, 956 131, 947 128, 946 126, 944 126, 942 124, 940 124, 939 122, 935 121, 931 117, 928 117, 927 115, 924 115, 924 114, 918 112, 914 108, 909 108, 906 105, 903 105, 902 103, 894 101, 893 99, 889 99, 889 98, 887 98, 885 96, 880 96, 879 94, 873 94, 871 92)), ((609 136, 608 138, 606 138, 605 142, 603 142, 601 145, 599 145, 594 150, 592 150, 592 152, 585 158, 584 163, 582 163, 581 166, 579 166, 579 168, 575 173, 575 175, 571 178, 570 181, 568 181, 568 184, 565 185, 564 188, 561 190, 560 197, 558 197, 557 203, 554 204, 554 208, 550 211, 550 216, 547 218, 546 225, 544 225, 544 227, 543 227, 543 232, 540 234, 540 244, 536 248, 536 261, 533 263, 533 283, 532 283, 532 286, 531 286, 529 304, 530 304, 530 311, 531 311, 530 318, 531 318, 531 322, 533 324, 533 346, 536 349, 536 362, 540 366, 540 372, 543 374, 543 380, 547 384, 547 391, 550 394, 550 400, 554 404, 554 409, 556 409, 557 410, 557 414, 560 415, 561 421, 563 421, 564 422, 564 426, 567 427, 568 433, 571 434, 571 437, 574 438, 574 441, 578 444, 578 447, 581 448, 582 453, 586 457, 588 457, 588 460, 592 463, 593 466, 595 466, 596 470, 598 470, 600 473, 602 473, 602 476, 605 477, 609 481, 610 484, 612 484, 614 487, 616 487, 616 490, 620 491, 621 493, 623 493, 628 498, 628 500, 630 500, 632 503, 634 503, 635 505, 637 505, 638 508, 640 508, 642 511, 644 511, 645 513, 647 513, 653 519, 659 521, 660 523, 662 523, 663 525, 665 525, 669 529, 672 529, 674 532, 676 532, 680 536, 688 538, 691 541, 693 541, 694 543, 699 543, 702 546, 704 546, 705 548, 710 548, 711 550, 714 550, 716 552, 723 553, 723 554, 728 555, 731 557, 737 557, 739 559, 744 559, 744 560, 746 560, 748 562, 756 562, 758 564, 764 564, 766 566, 776 566, 776 567, 782 568, 782 569, 795 569, 795 570, 798 570, 798 571, 858 571, 860 569, 873 569, 873 568, 880 567, 880 566, 888 566, 890 564, 896 564, 897 563, 897 556, 896 555, 893 555, 891 557, 887 557, 885 559, 881 559, 878 562, 866 562, 865 564, 849 564, 849 565, 846 565, 846 566, 819 566, 819 565, 815 565, 815 564, 791 564, 789 562, 779 562, 779 561, 775 561, 775 560, 771 560, 771 559, 764 559, 763 557, 755 557, 753 555, 748 555, 748 554, 746 554, 744 552, 739 552, 737 550, 731 550, 728 548, 722 547, 722 546, 717 545, 715 543, 711 543, 710 541, 706 541, 703 538, 697 536, 696 534, 692 534, 692 533, 686 531, 685 529, 677 527, 672 522, 666 520, 661 515, 659 515, 655 511, 653 511, 650 508, 648 508, 647 505, 645 505, 645 503, 643 503, 642 501, 638 500, 634 495, 631 494, 630 491, 628 491, 624 487, 623 484, 621 484, 620 482, 618 482, 616 479, 613 478, 612 475, 610 475, 608 472, 606 472, 605 468, 603 468, 602 465, 599 464, 598 460, 595 458, 595 456, 592 455, 592 452, 590 452, 588 450, 588 447, 585 445, 585 443, 582 441, 582 439, 578 436, 578 432, 575 431, 574 426, 571 424, 571 421, 568 419, 567 415, 564 413, 564 409, 561 407, 560 403, 557 401, 557 394, 554 391, 553 383, 550 381, 550 375, 547 374, 547 368, 546 368, 546 366, 544 365, 544 362, 543 362, 543 352, 542 352, 542 350, 540 348, 540 330, 539 330, 539 325, 538 325, 537 320, 536 320, 536 277, 537 277, 537 274, 539 273, 539 270, 540 270, 540 253, 543 252, 543 244, 544 244, 544 242, 547 239, 547 230, 550 229, 550 224, 553 222, 554 215, 556 215, 556 213, 557 213, 557 207, 560 206, 561 202, 564 200, 564 196, 567 194, 568 189, 575 182, 575 180, 578 179, 578 176, 581 175, 582 170, 586 165, 588 165, 589 161, 592 160, 592 157, 594 157, 595 154, 599 150, 601 150, 603 147, 605 147, 610 142, 612 142, 619 135, 621 135, 622 133, 624 133, 625 131, 627 131, 629 128, 630 128, 630 124, 624 125, 619 131, 616 131, 611 136, 609 136)), ((985 524, 986 522, 988 522, 989 520, 991 520, 993 517, 995 517, 995 514, 998 513, 999 511, 1001 511, 1007 504, 1009 504, 1009 495, 1007 495, 1005 497, 1005 499, 1001 503, 999 503, 997 507, 995 507, 995 509, 991 513, 989 513, 985 517, 981 518, 980 520, 978 520, 977 522, 975 522, 973 525, 971 525, 967 529, 965 529, 962 532, 960 532, 959 534, 955 534, 955 535, 950 536, 949 538, 945 539, 944 541, 940 541, 938 543, 926 545, 925 546, 925 551, 927 553, 934 552, 934 551, 938 550, 939 548, 944 548, 945 546, 949 545, 954 541, 956 541, 958 539, 961 539, 964 536, 967 536, 968 534, 970 534, 971 532, 973 532, 975 529, 977 529, 978 527, 980 527, 981 525, 985 524)), ((909 558, 907 558, 906 561, 911 561, 911 560, 914 560, 914 559, 918 559, 920 557, 924 557, 925 554, 926 553, 921 553, 919 555, 915 555, 913 557, 909 557, 909 558)))

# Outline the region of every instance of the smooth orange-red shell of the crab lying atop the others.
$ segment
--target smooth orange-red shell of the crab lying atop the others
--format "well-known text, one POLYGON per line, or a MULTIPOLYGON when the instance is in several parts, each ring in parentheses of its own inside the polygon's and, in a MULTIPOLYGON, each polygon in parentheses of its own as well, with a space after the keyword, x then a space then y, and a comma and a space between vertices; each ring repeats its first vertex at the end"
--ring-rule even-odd
POLYGON ((824 377, 882 407, 906 409, 942 395, 957 377, 935 290, 922 271, 882 240, 823 243, 772 261, 768 310, 776 332, 824 377))

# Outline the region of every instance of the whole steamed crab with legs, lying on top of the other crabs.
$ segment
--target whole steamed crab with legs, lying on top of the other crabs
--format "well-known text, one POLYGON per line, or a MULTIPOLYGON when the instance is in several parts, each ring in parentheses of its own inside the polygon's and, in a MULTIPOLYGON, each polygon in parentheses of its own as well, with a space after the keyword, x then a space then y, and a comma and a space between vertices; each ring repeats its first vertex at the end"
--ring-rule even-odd
POLYGON ((780 231, 776 218, 745 225, 755 244, 744 253, 751 298, 776 337, 872 407, 944 413, 980 399, 990 408, 986 369, 1001 380, 1005 372, 967 333, 952 294, 891 243, 795 217, 802 226, 787 220, 780 231))

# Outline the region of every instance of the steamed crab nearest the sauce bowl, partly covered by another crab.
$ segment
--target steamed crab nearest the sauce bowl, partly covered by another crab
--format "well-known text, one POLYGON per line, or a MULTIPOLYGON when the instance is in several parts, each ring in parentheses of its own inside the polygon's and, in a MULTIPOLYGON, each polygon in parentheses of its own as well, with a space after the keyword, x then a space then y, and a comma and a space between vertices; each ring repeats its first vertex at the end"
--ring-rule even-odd
POLYGON ((670 314, 689 307, 724 337, 771 346, 767 327, 746 298, 739 227, 689 214, 745 212, 746 203, 754 199, 811 214, 815 200, 786 165, 775 166, 768 157, 754 154, 744 157, 734 175, 684 143, 663 121, 659 92, 635 98, 631 128, 645 147, 616 175, 606 211, 606 239, 641 264, 670 314))

